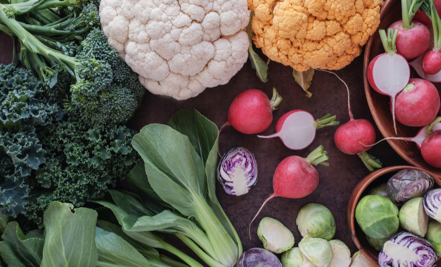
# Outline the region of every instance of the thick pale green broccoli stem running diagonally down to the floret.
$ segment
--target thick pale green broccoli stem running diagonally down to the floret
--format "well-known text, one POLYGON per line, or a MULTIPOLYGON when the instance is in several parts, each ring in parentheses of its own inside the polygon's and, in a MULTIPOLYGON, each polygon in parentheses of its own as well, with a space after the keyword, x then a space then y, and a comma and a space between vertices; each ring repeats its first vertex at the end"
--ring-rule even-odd
POLYGON ((61 52, 54 49, 48 48, 35 36, 30 34, 21 24, 19 24, 15 19, 9 18, 5 12, 5 6, 0 4, 0 20, 3 21, 10 30, 14 32, 15 35, 21 40, 22 44, 25 45, 32 53, 40 54, 45 58, 51 59, 61 65, 63 65, 69 73, 75 76, 76 64, 78 60, 67 56, 61 52))

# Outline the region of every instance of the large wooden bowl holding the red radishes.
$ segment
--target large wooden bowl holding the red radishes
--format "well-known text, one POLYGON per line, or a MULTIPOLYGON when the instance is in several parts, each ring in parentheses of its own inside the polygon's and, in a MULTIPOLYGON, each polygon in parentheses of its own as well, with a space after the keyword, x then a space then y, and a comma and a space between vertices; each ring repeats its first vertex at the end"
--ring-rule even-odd
MULTIPOLYGON (((401 20, 401 1, 386 0, 380 11, 380 25, 378 29, 387 29, 393 22, 401 20)), ((365 83, 366 97, 368 105, 375 123, 381 134, 386 137, 414 137, 417 135, 420 127, 409 127, 396 121, 397 134, 393 129, 392 113, 390 108, 391 97, 381 95, 370 87, 368 82, 368 65, 369 62, 377 55, 384 53, 384 48, 380 40, 378 30, 370 36, 366 44, 363 75, 365 83)), ((418 74, 411 67, 411 78, 419 78, 418 74)), ((436 83, 438 91, 441 93, 441 84, 436 83)), ((405 142, 401 140, 387 140, 392 148, 409 164, 431 171, 435 176, 441 178, 441 169, 430 166, 421 156, 421 151, 414 142, 405 142)))

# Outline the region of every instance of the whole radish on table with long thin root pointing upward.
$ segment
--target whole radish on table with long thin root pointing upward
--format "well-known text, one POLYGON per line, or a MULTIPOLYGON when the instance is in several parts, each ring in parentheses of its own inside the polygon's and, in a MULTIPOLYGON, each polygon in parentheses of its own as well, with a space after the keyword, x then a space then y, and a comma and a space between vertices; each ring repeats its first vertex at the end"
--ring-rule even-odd
POLYGON ((334 143, 337 148, 345 154, 355 155, 362 159, 363 163, 368 167, 370 171, 374 171, 373 168, 381 168, 381 162, 375 160, 374 157, 369 155, 366 151, 370 147, 362 144, 372 145, 375 143, 375 129, 370 121, 365 119, 355 120, 351 112, 351 104, 349 97, 349 88, 347 84, 336 74, 329 71, 319 70, 326 73, 332 73, 339 78, 347 90, 347 109, 349 112, 349 121, 341 125, 334 134, 334 143))

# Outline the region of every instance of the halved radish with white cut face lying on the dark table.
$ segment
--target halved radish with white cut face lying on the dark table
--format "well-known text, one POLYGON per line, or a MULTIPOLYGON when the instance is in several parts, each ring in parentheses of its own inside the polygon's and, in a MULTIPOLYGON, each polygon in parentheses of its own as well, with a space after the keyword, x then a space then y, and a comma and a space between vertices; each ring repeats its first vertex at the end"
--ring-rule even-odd
POLYGON ((276 133, 268 136, 258 135, 261 138, 278 137, 282 140, 286 147, 293 150, 303 149, 314 141, 317 128, 329 125, 338 125, 338 121, 334 121, 336 116, 326 114, 319 120, 304 110, 292 110, 285 113, 276 124, 276 133))

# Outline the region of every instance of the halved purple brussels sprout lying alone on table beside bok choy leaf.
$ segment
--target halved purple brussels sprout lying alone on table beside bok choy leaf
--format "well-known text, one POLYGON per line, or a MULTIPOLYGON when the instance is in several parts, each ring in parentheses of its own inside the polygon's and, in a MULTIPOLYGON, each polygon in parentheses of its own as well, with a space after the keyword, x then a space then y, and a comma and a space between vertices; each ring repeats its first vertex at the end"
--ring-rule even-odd
POLYGON ((254 155, 244 147, 233 148, 221 159, 218 179, 228 194, 248 193, 257 182, 257 163, 254 155))

